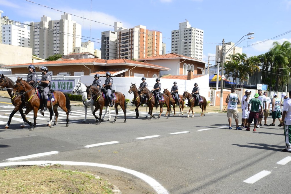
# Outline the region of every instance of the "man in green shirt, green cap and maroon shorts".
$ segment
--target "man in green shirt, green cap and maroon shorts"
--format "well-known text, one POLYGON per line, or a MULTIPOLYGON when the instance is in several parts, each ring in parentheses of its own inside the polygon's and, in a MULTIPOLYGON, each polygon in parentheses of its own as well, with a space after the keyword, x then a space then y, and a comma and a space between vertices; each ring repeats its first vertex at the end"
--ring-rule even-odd
POLYGON ((246 127, 247 131, 250 130, 250 125, 253 122, 253 120, 255 120, 254 121, 255 126, 254 126, 253 131, 257 131, 256 127, 257 127, 257 122, 258 122, 258 118, 259 118, 259 112, 261 114, 262 110, 263 110, 262 101, 259 100, 258 97, 259 97, 259 94, 255 93, 254 97, 250 100, 250 102, 248 104, 248 111, 250 111, 250 114, 249 114, 248 126, 246 127), (251 109, 250 109, 250 104, 252 105, 251 109))

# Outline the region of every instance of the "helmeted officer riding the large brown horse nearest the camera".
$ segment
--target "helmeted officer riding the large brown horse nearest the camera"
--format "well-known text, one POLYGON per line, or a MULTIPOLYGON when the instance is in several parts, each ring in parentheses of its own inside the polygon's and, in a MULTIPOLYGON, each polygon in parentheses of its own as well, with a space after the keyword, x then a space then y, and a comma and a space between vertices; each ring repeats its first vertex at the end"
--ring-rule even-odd
POLYGON ((43 107, 42 107, 42 111, 46 111, 47 110, 47 94, 49 93, 50 90, 50 84, 52 81, 52 76, 51 74, 48 74, 49 69, 45 66, 39 67, 40 71, 41 71, 41 80, 37 81, 38 84, 38 88, 39 91, 41 92, 41 96, 42 96, 42 103, 43 103, 43 107))

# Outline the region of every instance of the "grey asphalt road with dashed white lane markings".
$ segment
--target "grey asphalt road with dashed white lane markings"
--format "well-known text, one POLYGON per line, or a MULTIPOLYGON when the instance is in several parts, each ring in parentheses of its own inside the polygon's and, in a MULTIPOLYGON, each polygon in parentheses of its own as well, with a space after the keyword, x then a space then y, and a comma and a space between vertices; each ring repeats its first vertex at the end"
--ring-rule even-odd
MULTIPOLYGON (((46 117, 37 121, 39 125, 34 131, 29 131, 28 126, 19 129, 22 122, 15 120, 8 130, 3 130, 11 107, 1 102, 5 99, 0 98, 2 163, 48 160, 118 166, 149 176, 172 194, 290 193, 291 157, 281 152, 284 136, 280 127, 262 127, 257 132, 237 131, 228 130, 225 113, 148 121, 145 113, 136 119, 130 111, 127 123, 123 123, 120 112, 115 124, 106 121, 95 125, 93 117, 81 124, 84 110, 73 107, 69 127, 65 127, 63 116, 54 128, 42 124, 48 120, 46 117), (15 159, 47 152, 53 155, 15 159)), ((116 177, 123 177, 145 193, 159 193, 130 173, 96 166, 71 167, 110 177, 110 182, 117 184, 116 177)))

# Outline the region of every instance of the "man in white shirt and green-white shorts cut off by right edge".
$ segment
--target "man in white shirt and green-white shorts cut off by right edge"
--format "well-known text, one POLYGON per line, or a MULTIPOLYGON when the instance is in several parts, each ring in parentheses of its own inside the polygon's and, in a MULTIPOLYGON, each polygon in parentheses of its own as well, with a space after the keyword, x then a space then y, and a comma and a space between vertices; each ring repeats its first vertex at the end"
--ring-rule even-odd
POLYGON ((291 152, 291 91, 289 100, 284 102, 281 125, 284 125, 285 149, 283 152, 291 152))

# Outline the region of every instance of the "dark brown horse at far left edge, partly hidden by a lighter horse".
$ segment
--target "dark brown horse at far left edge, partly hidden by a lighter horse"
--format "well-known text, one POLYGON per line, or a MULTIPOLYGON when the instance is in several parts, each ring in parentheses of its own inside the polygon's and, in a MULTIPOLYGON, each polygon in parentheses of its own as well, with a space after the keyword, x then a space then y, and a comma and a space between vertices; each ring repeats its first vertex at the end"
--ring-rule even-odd
MULTIPOLYGON (((11 103, 15 106, 13 111, 9 115, 9 119, 8 119, 8 122, 5 126, 5 129, 9 128, 9 125, 11 123, 11 119, 17 111, 19 111, 19 113, 23 119, 23 124, 20 127, 24 128, 25 123, 27 123, 31 126, 32 123, 26 119, 25 114, 23 113, 23 107, 25 106, 25 104, 22 102, 21 96, 20 95, 12 96, 12 94, 11 94, 13 86, 14 86, 14 82, 10 78, 5 77, 2 73, 2 75, 0 75, 0 90, 4 90, 4 88, 6 88, 8 94, 11 98, 11 103)), ((31 111, 31 109, 29 110, 29 112, 30 111, 31 111)))

